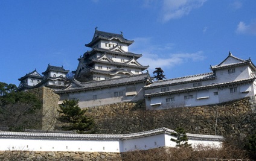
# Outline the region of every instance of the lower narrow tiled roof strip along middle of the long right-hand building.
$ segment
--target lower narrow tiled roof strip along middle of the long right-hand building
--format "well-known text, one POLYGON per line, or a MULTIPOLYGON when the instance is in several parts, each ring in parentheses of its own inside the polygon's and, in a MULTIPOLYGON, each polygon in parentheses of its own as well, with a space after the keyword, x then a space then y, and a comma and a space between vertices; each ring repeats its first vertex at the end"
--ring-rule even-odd
POLYGON ((217 83, 217 84, 209 84, 206 86, 199 86, 199 87, 188 87, 188 88, 184 88, 184 89, 173 89, 173 90, 169 90, 166 92, 148 93, 148 94, 145 94, 144 96, 150 97, 150 96, 159 96, 159 95, 169 95, 169 94, 173 94, 173 93, 191 92, 191 91, 202 90, 202 89, 211 89, 211 88, 215 88, 215 87, 229 86, 232 84, 241 84, 241 83, 251 82, 251 81, 254 81, 255 79, 256 79, 256 73, 252 72, 252 74, 249 78, 246 78, 243 80, 229 81, 229 82, 217 83))

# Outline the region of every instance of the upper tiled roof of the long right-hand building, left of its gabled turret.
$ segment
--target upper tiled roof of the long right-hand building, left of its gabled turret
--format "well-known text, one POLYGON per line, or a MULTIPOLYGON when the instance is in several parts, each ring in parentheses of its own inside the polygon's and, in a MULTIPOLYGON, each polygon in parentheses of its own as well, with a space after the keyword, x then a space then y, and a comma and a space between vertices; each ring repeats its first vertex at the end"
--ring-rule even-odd
POLYGON ((149 84, 149 86, 145 86, 144 89, 150 89, 150 88, 161 87, 161 86, 172 86, 174 84, 183 84, 183 83, 188 83, 190 81, 211 80, 215 78, 216 78, 216 75, 213 72, 209 72, 205 74, 189 75, 186 77, 155 81, 154 83, 149 84))

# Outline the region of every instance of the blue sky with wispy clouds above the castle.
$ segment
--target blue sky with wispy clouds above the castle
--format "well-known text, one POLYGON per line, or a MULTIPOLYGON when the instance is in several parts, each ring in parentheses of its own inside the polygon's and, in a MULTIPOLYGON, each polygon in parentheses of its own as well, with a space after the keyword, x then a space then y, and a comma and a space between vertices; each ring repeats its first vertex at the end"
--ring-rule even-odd
POLYGON ((50 63, 74 71, 98 27, 135 42, 152 74, 167 78, 210 71, 231 51, 256 64, 255 0, 0 1, 0 81, 18 78, 50 63))

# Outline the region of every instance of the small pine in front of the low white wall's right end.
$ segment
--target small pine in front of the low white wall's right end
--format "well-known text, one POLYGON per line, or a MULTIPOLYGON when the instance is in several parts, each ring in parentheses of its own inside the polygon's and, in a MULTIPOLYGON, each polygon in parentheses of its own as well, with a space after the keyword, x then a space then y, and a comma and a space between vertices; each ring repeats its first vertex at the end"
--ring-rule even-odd
POLYGON ((171 138, 171 141, 176 142, 176 147, 190 147, 188 144, 188 136, 182 127, 175 129, 176 133, 171 133, 171 136, 176 137, 177 139, 171 138))

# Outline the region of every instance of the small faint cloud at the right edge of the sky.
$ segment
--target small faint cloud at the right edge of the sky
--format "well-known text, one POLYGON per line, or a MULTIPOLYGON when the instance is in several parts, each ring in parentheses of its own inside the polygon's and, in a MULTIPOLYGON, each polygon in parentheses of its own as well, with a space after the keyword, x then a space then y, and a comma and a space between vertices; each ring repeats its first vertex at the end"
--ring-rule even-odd
POLYGON ((256 21, 246 25, 245 22, 240 21, 235 31, 237 34, 251 34, 256 36, 256 21))

